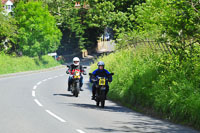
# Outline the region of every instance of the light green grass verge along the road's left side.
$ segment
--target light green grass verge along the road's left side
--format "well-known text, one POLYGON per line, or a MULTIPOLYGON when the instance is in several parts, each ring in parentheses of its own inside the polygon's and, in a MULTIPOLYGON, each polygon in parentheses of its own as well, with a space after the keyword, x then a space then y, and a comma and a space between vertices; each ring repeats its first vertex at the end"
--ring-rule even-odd
POLYGON ((14 57, 0 54, 0 74, 40 70, 60 65, 50 56, 38 57, 14 57))

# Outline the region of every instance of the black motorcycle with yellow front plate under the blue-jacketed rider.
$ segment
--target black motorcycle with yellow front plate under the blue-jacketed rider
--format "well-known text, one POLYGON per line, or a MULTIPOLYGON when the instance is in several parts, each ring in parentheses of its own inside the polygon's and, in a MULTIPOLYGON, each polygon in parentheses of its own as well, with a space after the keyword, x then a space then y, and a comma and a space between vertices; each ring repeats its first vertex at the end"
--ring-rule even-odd
POLYGON ((90 78, 96 85, 96 93, 95 93, 95 101, 96 105, 104 108, 105 100, 106 100, 106 82, 109 81, 108 79, 114 75, 114 73, 110 73, 108 77, 95 77, 92 73, 89 73, 90 78))

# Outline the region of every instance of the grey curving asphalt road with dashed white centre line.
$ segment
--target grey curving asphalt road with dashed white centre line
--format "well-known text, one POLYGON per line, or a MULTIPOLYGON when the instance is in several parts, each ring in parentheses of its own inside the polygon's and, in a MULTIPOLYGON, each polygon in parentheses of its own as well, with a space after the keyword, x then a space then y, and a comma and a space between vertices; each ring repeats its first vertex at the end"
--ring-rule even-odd
POLYGON ((104 109, 96 107, 88 75, 84 91, 75 98, 67 91, 65 70, 0 78, 0 133, 197 132, 109 100, 104 109))

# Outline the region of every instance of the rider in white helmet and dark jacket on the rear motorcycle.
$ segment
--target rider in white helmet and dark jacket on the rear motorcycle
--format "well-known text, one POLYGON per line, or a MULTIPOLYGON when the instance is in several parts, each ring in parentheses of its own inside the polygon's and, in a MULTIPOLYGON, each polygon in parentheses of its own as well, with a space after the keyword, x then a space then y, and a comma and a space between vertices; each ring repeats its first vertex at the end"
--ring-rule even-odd
MULTIPOLYGON (((83 66, 80 65, 80 59, 78 57, 74 57, 73 58, 73 64, 70 65, 69 69, 66 71, 67 74, 70 73, 69 75, 69 78, 68 78, 68 91, 71 91, 71 84, 72 84, 72 76, 75 72, 75 70, 78 69, 80 70, 81 73, 85 74, 85 70, 83 69, 83 66)), ((81 78, 80 78, 80 90, 82 90, 82 87, 83 86, 83 76, 81 75, 81 78)))

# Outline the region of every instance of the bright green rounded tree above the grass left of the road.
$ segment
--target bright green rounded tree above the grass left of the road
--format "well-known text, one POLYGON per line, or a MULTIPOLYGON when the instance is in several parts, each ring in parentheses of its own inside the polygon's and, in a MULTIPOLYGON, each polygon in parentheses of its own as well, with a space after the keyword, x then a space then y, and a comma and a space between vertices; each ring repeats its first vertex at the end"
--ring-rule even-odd
POLYGON ((62 34, 47 6, 38 1, 20 1, 14 12, 19 27, 19 48, 24 55, 40 57, 57 50, 62 34))

